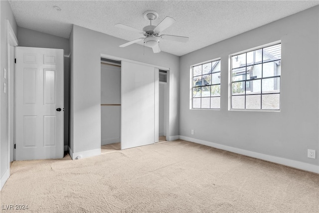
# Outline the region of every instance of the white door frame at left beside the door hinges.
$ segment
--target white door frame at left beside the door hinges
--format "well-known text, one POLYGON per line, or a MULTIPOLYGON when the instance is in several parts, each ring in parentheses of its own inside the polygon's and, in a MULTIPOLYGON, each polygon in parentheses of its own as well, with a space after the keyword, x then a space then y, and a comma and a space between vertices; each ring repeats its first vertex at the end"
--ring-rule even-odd
MULTIPOLYGON (((10 162, 14 160, 14 66, 11 66, 12 61, 14 58, 10 58, 10 46, 16 47, 18 46, 18 40, 15 36, 15 33, 11 27, 9 20, 7 21, 7 56, 8 56, 8 70, 7 70, 7 77, 8 77, 8 157, 9 157, 9 166, 10 162), (13 79, 13 81, 11 81, 13 79), (13 85, 12 85, 13 84, 13 85), (13 99, 13 105, 11 101, 13 99), (13 131, 11 126, 13 125, 13 131)), ((14 53, 15 56, 15 53, 14 53)))

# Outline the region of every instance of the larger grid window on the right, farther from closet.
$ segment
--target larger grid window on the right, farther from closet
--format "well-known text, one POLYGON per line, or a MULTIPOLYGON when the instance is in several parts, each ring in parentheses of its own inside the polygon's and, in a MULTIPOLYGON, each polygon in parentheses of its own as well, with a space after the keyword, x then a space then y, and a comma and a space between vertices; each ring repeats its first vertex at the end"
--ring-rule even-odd
POLYGON ((231 108, 280 110, 281 44, 231 56, 231 108))

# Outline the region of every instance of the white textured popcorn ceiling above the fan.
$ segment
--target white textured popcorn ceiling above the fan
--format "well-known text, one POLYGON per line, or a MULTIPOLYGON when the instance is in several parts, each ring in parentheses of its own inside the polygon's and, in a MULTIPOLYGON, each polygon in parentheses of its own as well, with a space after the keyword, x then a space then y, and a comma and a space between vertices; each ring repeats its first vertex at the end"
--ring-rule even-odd
MULTIPOLYGON (((114 26, 122 23, 138 29, 149 25, 143 13, 155 10, 176 22, 163 34, 188 36, 187 43, 162 40, 160 49, 184 55, 242 32, 318 5, 319 0, 10 0, 18 26, 69 38, 72 24, 125 40, 141 34, 114 26), (60 6, 61 11, 53 8, 60 6)), ((125 41, 123 42, 125 43, 125 41)), ((142 41, 140 44, 143 44, 142 41)))

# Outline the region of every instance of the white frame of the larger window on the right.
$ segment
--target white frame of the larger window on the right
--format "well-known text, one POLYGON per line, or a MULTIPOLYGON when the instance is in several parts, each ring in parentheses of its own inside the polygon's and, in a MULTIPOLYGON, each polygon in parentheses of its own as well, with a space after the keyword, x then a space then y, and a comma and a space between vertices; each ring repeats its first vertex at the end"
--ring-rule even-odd
MULTIPOLYGON (((229 76, 229 81, 228 81, 228 110, 229 111, 258 111, 258 112, 280 112, 281 111, 281 77, 282 77, 282 74, 279 75, 280 77, 280 88, 279 88, 279 95, 280 95, 280 100, 279 100, 279 109, 262 109, 262 105, 261 105, 261 109, 246 109, 246 108, 232 108, 232 56, 235 56, 235 55, 240 55, 240 54, 243 54, 243 53, 247 53, 247 52, 251 52, 251 51, 254 51, 254 50, 258 50, 258 49, 261 49, 261 48, 267 48, 267 47, 270 47, 270 46, 273 46, 273 45, 277 45, 277 44, 282 44, 281 40, 278 40, 278 41, 274 41, 274 42, 271 42, 271 43, 268 43, 268 44, 264 44, 264 45, 261 45, 261 46, 257 46, 257 47, 253 47, 253 48, 250 48, 250 49, 246 49, 246 50, 243 50, 243 51, 240 51, 240 52, 236 52, 236 53, 233 53, 233 54, 230 54, 229 57, 228 57, 228 61, 229 61, 229 70, 228 70, 228 76, 229 76)), ((281 52, 282 52, 282 46, 281 46, 281 52)), ((280 61, 282 62, 282 58, 280 59, 280 61)), ((261 62, 261 64, 264 64, 264 63, 267 63, 266 62, 261 62)), ((250 66, 250 65, 248 65, 250 66)), ((247 67, 247 63, 246 63, 246 67, 247 67)), ((260 78, 260 79, 263 79, 260 78)), ((247 81, 247 79, 246 79, 247 81)), ((245 85, 246 85, 246 81, 245 82, 245 85)), ((263 94, 262 91, 260 93, 261 95, 263 94)), ((246 107, 246 92, 245 92, 245 107, 246 107)))

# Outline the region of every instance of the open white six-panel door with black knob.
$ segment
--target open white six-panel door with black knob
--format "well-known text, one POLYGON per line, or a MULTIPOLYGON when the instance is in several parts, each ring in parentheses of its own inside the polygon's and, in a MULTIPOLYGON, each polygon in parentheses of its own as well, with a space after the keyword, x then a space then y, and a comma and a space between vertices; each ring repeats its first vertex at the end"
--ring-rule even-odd
POLYGON ((63 158, 63 54, 16 47, 15 160, 63 158))

